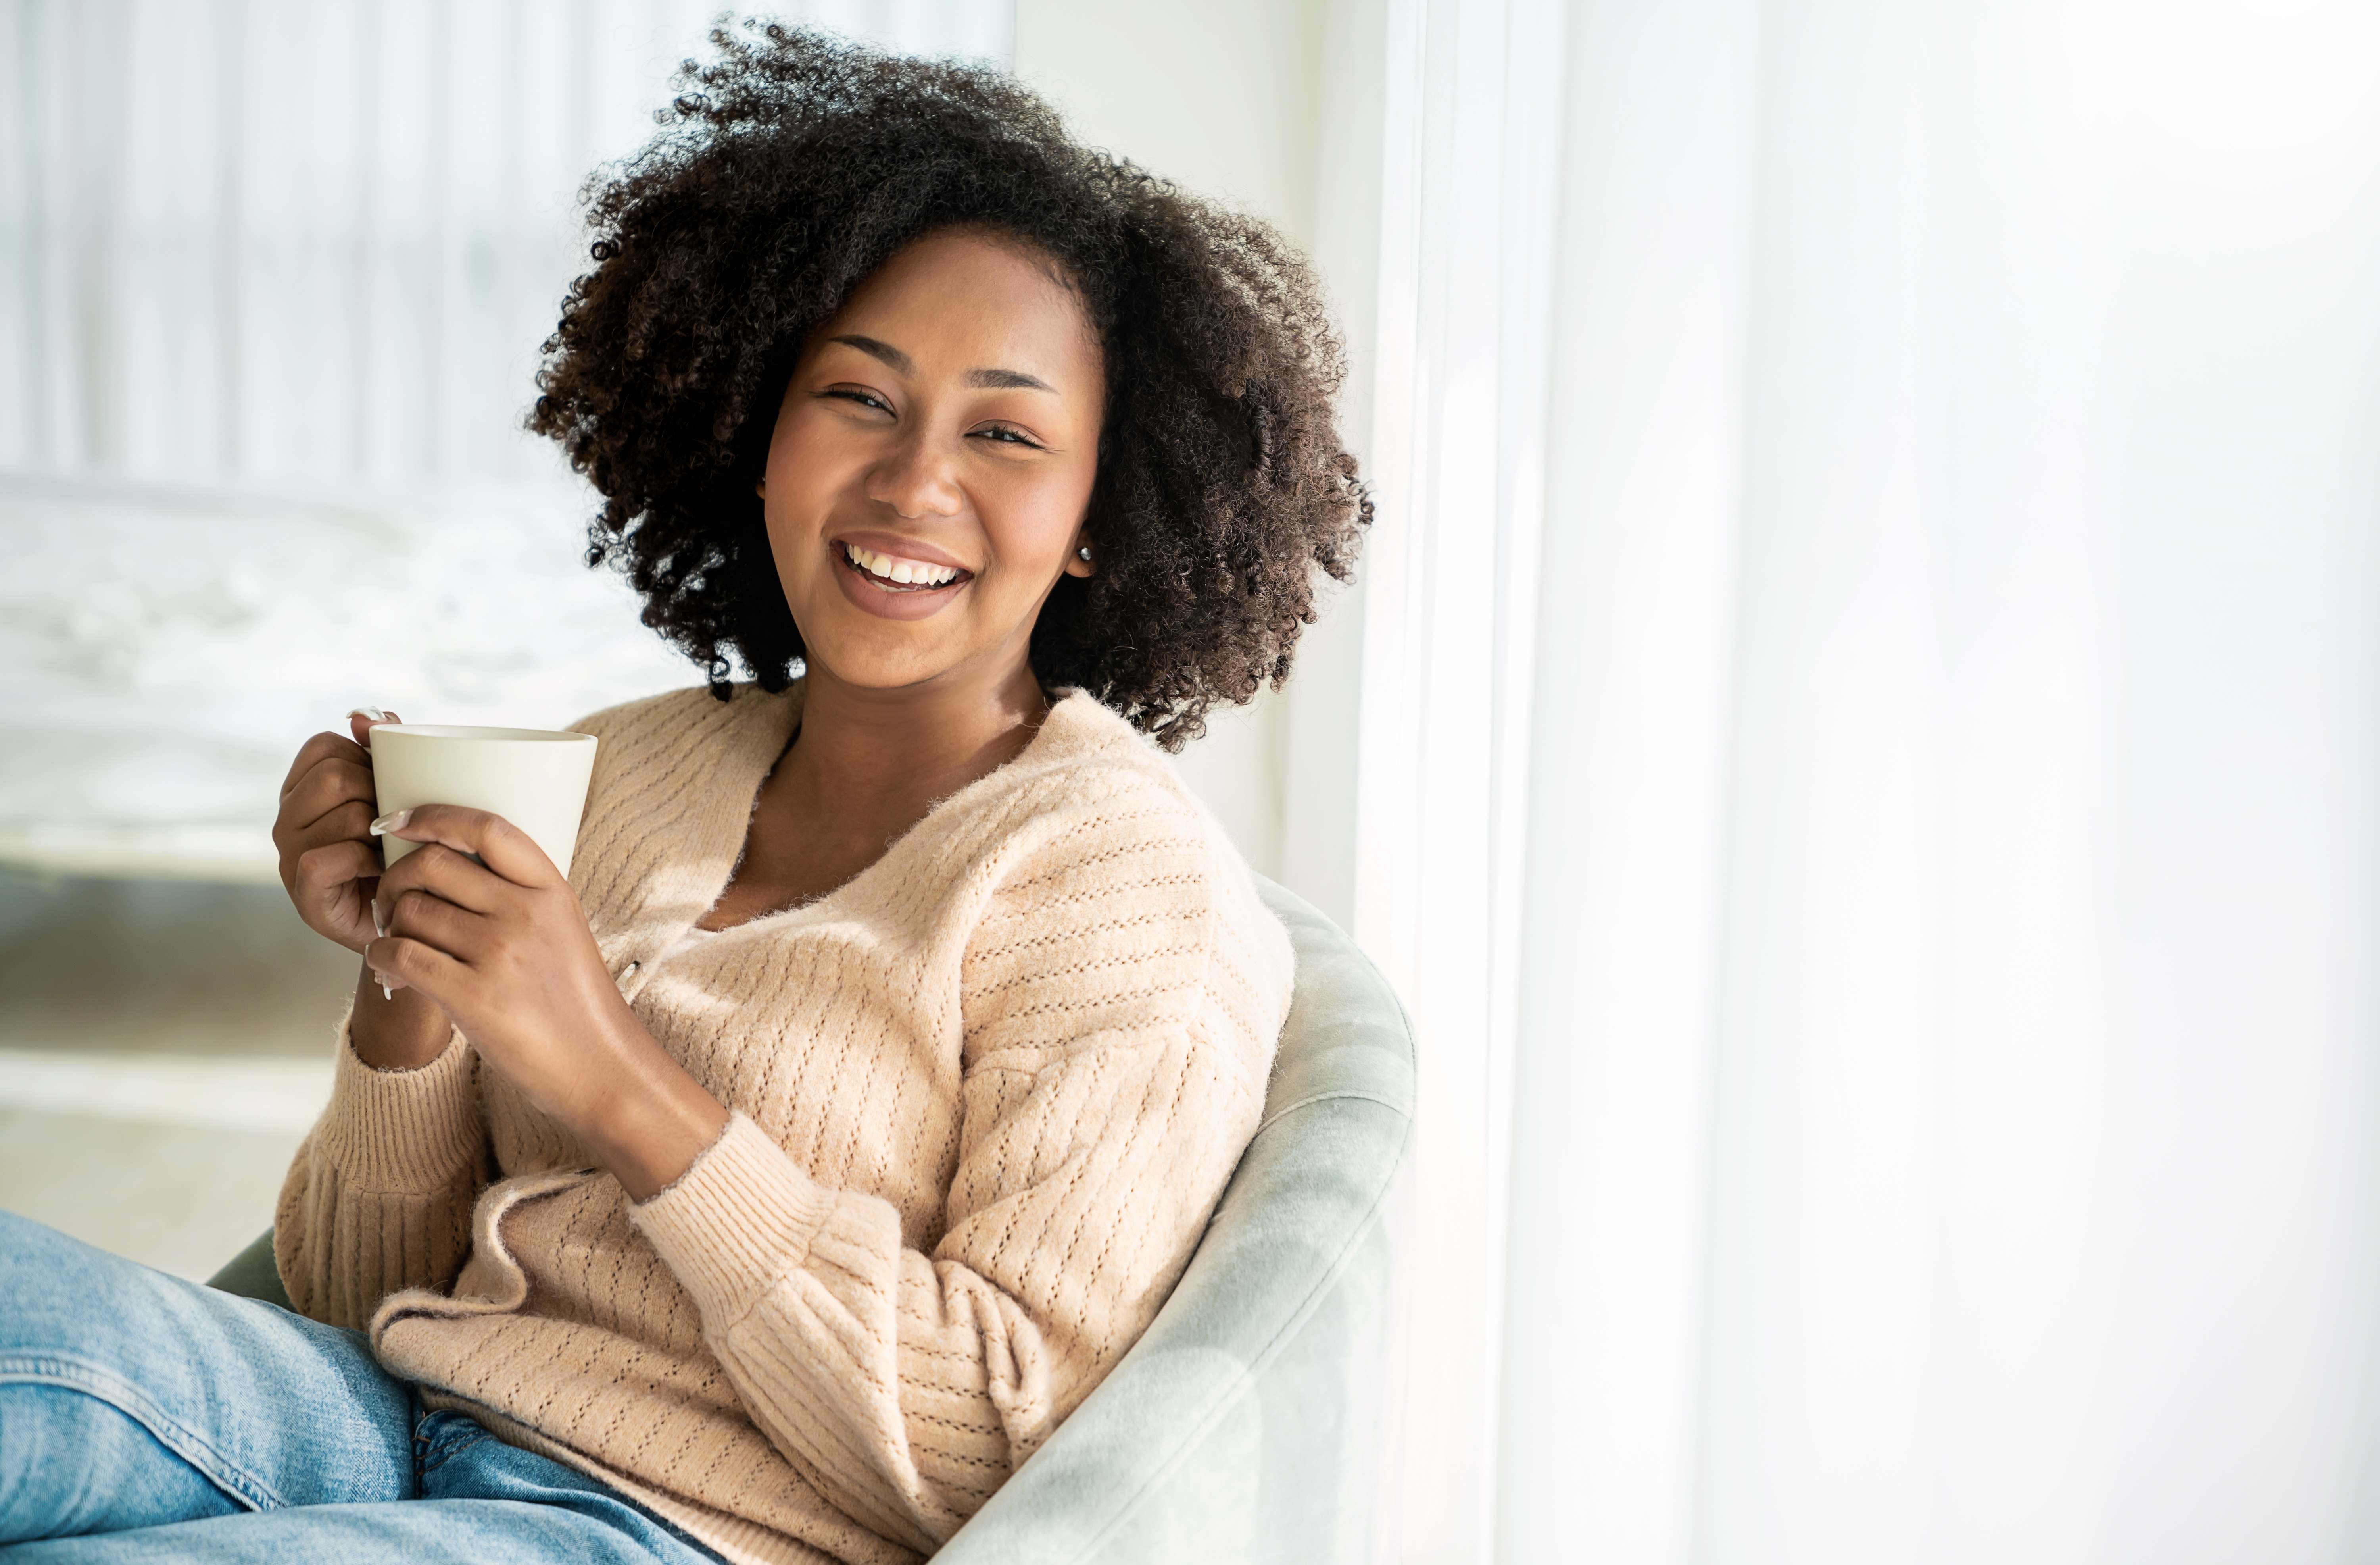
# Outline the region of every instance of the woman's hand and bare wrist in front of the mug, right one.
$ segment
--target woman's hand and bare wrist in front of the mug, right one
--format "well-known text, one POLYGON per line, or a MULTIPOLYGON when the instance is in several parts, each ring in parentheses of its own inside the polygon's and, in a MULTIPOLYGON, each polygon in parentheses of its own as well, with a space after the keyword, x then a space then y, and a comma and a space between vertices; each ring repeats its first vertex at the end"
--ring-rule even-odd
POLYGON ((374 824, 424 843, 381 877, 386 936, 364 948, 378 981, 438 1000, 478 1058, 585 1141, 633 1198, 683 1174, 728 1112, 628 1010, 545 850, 462 805, 374 824))

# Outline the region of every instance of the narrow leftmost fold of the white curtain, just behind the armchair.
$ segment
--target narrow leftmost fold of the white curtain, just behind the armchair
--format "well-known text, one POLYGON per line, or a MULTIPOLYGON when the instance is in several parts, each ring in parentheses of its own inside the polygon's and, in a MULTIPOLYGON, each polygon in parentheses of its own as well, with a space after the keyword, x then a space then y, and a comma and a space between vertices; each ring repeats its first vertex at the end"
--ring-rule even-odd
POLYGON ((1423 1039, 1383 1539, 1492 1501, 1514 972, 1545 512, 1559 5, 1390 0, 1354 934, 1423 1039))

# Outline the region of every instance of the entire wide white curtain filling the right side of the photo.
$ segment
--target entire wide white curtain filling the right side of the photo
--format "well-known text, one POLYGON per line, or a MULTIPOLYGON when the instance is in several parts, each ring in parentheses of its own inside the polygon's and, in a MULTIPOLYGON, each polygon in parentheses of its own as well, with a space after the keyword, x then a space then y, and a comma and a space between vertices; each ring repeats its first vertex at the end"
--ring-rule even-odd
POLYGON ((1388 60, 1397 1555, 2380 1555, 2380 14, 1388 60))

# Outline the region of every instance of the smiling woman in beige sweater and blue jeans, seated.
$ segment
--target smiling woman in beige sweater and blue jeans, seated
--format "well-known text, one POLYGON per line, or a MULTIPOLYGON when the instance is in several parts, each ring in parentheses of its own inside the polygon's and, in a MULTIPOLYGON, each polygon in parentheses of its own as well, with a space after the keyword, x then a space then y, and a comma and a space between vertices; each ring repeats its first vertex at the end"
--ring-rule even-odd
POLYGON ((26 1560, 931 1553, 1254 1131, 1290 950, 1159 746, 1368 519, 1314 283, 1000 76, 716 43, 531 419, 709 686, 581 724, 571 881, 300 750, 283 879, 364 958, 309 1320, 12 1220, 26 1560))

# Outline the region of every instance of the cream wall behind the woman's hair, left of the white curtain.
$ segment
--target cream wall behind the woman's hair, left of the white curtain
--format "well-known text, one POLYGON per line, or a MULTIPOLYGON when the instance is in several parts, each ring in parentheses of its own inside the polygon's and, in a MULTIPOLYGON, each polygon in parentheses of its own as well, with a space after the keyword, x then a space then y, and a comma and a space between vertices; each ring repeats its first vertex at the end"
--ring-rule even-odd
MULTIPOLYGON (((1016 74, 1083 141, 1276 224, 1323 262, 1347 319, 1371 288, 1340 276, 1349 264, 1333 264, 1347 252, 1335 217, 1345 198, 1319 198, 1333 102, 1326 40, 1345 10, 1347 0, 1016 0, 1016 74)), ((1368 250, 1359 262, 1368 264, 1368 250)), ((1347 808, 1330 798, 1330 779, 1345 772, 1352 784, 1354 774, 1352 660, 1335 657, 1347 629, 1335 622, 1352 622, 1352 610, 1340 605, 1309 634, 1288 691, 1211 719, 1180 757, 1247 860, 1335 915, 1345 915, 1347 874, 1330 822, 1345 822, 1347 808), (1347 715, 1345 746, 1333 738, 1338 712, 1347 715), (1319 791, 1302 786, 1309 777, 1319 791)))

